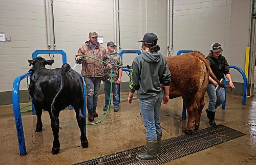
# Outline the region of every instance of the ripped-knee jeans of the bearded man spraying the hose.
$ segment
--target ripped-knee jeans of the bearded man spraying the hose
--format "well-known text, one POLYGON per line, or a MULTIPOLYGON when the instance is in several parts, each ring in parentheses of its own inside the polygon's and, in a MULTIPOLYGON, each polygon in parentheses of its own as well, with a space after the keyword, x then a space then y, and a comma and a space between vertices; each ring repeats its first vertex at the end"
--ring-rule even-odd
POLYGON ((96 109, 99 95, 101 77, 83 77, 86 83, 87 109, 96 109))

